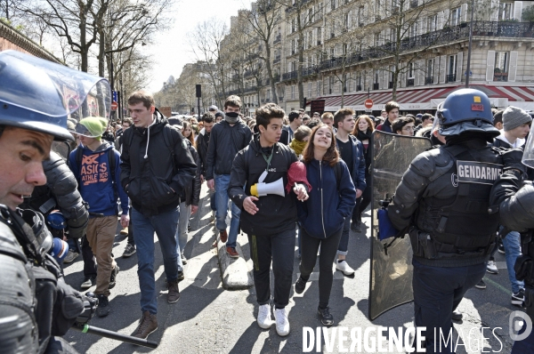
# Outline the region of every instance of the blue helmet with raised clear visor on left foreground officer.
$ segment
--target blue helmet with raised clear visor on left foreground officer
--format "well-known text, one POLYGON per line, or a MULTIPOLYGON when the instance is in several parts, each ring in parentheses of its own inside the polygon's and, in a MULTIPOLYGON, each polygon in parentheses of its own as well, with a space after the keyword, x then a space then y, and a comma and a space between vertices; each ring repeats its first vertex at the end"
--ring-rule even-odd
POLYGON ((0 125, 74 140, 67 119, 109 117, 106 79, 22 52, 0 52, 0 125))

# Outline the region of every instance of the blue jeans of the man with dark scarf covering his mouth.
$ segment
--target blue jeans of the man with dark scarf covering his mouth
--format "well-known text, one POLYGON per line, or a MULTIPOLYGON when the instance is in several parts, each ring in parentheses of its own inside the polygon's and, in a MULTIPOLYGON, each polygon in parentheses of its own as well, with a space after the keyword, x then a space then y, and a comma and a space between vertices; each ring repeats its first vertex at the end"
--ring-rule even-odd
MULTIPOLYGON (((228 214, 228 185, 230 184, 230 174, 215 174, 215 203, 217 205, 217 221, 216 227, 219 231, 226 229, 226 215, 228 214)), ((238 240, 239 232, 239 218, 241 216, 241 209, 233 202, 231 203, 231 222, 230 232, 228 232, 227 247, 235 247, 238 240)))

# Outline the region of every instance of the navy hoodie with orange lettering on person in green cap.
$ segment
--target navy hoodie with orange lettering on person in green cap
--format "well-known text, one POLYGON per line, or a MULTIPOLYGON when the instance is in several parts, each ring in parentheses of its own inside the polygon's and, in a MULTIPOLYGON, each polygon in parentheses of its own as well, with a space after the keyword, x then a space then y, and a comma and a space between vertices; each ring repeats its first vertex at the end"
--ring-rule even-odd
POLYGON ((117 215, 117 197, 123 214, 128 213, 128 196, 120 184, 120 154, 108 142, 92 151, 81 144, 69 155, 69 167, 77 178, 80 194, 89 204, 90 214, 117 215), (77 149, 83 149, 82 165, 76 161, 77 149), (108 150, 115 154, 115 183, 111 181, 108 150), (117 192, 116 190, 117 189, 117 192))

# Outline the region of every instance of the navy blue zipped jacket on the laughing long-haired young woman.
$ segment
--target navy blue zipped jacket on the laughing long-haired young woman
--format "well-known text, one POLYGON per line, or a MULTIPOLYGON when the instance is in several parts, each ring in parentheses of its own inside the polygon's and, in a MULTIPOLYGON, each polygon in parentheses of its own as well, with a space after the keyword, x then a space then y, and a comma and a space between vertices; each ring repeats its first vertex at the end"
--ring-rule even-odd
POLYGON ((337 190, 336 173, 325 161, 306 164, 306 176, 312 190, 308 200, 297 203, 298 220, 306 232, 316 238, 328 238, 343 228, 344 219, 352 214, 356 204, 356 189, 351 173, 343 160, 337 190))

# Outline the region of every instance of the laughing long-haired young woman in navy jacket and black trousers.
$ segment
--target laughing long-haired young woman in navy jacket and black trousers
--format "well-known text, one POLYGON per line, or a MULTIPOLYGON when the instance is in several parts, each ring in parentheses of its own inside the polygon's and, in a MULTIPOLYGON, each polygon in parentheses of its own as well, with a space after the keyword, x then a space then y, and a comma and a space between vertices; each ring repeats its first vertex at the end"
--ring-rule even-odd
POLYGON ((303 293, 320 247, 318 312, 325 326, 334 324, 328 309, 334 278, 332 262, 336 258, 344 219, 351 217, 356 200, 351 174, 339 158, 334 136, 328 125, 320 124, 313 129, 303 151, 303 162, 312 190, 308 193, 308 200, 297 203, 298 219, 302 225, 302 257, 301 276, 295 283, 295 293, 303 293))

